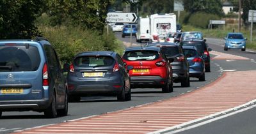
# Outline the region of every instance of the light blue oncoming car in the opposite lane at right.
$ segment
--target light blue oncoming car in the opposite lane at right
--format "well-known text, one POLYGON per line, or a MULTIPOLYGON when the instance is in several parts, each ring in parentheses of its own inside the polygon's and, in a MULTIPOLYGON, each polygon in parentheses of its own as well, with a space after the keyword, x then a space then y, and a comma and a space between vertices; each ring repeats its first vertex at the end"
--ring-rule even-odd
POLYGON ((228 33, 224 38, 225 46, 224 50, 228 49, 241 49, 246 50, 246 38, 244 38, 242 33, 228 33))

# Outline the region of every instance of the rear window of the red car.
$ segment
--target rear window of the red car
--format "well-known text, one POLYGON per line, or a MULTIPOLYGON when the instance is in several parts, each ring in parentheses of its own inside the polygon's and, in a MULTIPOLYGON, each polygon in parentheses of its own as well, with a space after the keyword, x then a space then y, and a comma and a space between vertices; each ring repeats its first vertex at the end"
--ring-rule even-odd
POLYGON ((154 50, 136 50, 124 54, 124 59, 128 61, 152 61, 158 58, 159 54, 154 50))

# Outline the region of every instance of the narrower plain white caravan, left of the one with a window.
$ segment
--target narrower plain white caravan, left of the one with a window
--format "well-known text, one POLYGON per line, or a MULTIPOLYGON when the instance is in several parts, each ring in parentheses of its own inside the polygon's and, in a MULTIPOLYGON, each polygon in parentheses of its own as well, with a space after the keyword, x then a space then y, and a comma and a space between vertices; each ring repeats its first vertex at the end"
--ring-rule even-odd
POLYGON ((149 17, 138 19, 138 31, 136 33, 136 41, 150 41, 150 25, 149 17))

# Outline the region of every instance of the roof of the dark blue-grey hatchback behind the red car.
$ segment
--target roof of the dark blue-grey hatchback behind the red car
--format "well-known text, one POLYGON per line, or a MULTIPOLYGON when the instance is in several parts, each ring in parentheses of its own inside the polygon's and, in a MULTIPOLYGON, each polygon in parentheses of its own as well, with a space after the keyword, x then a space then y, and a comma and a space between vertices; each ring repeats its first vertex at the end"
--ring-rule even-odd
POLYGON ((88 51, 88 52, 80 52, 79 54, 77 54, 76 57, 80 57, 80 56, 111 56, 111 57, 115 57, 116 52, 112 52, 112 51, 88 51))

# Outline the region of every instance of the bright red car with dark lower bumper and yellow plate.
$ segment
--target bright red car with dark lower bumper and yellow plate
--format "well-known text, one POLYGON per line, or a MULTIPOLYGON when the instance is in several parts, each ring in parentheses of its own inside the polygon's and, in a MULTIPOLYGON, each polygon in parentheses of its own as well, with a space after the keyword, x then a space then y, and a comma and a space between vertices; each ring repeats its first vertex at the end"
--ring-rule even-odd
POLYGON ((122 57, 129 71, 132 88, 162 88, 173 91, 172 66, 158 47, 126 48, 122 57))

